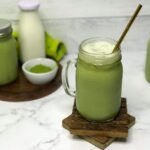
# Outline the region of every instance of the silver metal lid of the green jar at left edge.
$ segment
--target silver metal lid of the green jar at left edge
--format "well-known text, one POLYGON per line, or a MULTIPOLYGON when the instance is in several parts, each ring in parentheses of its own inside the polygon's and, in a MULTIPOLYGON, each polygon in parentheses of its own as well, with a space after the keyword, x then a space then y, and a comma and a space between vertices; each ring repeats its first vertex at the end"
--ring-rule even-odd
POLYGON ((11 23, 8 20, 0 19, 0 38, 10 35, 11 32, 11 23))

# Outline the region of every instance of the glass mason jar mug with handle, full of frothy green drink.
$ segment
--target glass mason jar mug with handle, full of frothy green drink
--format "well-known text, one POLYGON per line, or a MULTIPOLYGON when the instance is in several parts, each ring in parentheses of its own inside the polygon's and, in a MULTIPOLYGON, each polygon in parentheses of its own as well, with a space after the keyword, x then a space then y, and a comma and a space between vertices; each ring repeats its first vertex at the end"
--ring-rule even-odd
POLYGON ((122 87, 121 51, 112 53, 115 41, 91 38, 79 47, 77 63, 69 61, 63 68, 65 91, 76 98, 79 113, 88 120, 109 121, 120 109, 122 87), (76 66, 76 92, 69 87, 67 72, 76 66))

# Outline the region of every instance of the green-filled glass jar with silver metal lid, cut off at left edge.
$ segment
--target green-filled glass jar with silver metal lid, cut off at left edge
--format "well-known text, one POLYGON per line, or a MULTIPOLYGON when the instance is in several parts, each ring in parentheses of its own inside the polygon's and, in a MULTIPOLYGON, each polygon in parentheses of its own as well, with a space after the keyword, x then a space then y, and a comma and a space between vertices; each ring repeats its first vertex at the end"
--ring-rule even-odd
POLYGON ((9 21, 0 19, 0 85, 14 81, 18 75, 16 41, 9 21))

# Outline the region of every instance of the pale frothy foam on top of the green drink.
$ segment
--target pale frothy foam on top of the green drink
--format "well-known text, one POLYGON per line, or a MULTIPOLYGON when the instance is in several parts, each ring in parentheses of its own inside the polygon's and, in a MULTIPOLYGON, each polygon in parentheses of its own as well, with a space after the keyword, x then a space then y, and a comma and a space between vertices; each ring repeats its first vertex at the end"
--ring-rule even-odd
POLYGON ((84 51, 92 54, 111 54, 115 45, 106 41, 94 41, 84 45, 84 51))

